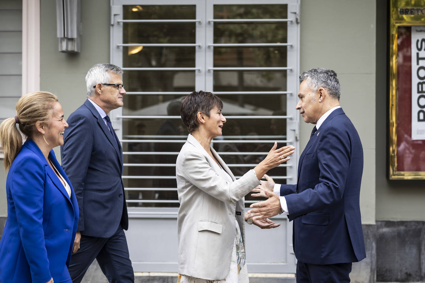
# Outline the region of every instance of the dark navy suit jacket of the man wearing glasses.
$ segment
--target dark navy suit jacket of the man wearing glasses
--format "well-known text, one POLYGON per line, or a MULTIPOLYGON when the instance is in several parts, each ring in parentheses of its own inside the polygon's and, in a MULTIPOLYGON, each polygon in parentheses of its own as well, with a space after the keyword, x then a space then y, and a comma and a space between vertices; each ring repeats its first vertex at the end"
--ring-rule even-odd
POLYGON ((99 112, 86 100, 67 120, 62 167, 74 186, 79 205, 78 231, 108 238, 128 229, 122 183, 122 149, 99 112))

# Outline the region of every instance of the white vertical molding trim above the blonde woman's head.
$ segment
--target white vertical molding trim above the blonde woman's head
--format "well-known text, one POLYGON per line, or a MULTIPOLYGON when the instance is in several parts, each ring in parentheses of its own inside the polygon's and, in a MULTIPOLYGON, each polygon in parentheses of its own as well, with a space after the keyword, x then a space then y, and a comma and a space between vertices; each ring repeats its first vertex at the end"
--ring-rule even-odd
POLYGON ((22 0, 22 95, 40 90, 40 0, 22 0))

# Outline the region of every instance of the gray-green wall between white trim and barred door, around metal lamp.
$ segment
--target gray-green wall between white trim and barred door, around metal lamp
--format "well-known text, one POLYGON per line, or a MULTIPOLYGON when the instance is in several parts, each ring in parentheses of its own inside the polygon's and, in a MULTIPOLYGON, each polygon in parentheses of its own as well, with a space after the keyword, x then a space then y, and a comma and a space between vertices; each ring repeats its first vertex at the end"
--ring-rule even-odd
MULTIPOLYGON (((109 62, 110 1, 81 1, 81 53, 61 53, 56 37, 56 0, 40 1, 40 89, 52 92, 65 118, 86 99, 85 75, 96 63, 109 62)), ((59 147, 55 149, 60 160, 59 147)))

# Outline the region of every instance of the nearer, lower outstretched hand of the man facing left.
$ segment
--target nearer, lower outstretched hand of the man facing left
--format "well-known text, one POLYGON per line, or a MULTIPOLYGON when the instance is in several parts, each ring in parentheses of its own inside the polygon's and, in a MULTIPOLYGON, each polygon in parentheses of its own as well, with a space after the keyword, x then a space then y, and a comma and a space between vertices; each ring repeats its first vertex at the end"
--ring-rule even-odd
POLYGON ((261 190, 261 193, 253 193, 251 196, 265 196, 269 199, 263 202, 256 202, 249 207, 256 207, 248 210, 248 214, 252 216, 252 220, 266 219, 282 212, 280 208, 279 196, 267 190, 261 190))

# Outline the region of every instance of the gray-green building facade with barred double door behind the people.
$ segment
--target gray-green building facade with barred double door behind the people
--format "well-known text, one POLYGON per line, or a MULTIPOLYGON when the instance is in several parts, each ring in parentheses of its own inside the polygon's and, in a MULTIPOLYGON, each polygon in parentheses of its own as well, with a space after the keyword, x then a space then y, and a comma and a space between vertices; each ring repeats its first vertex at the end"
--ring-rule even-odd
MULTIPOLYGON (((111 62, 124 68, 125 106, 111 112, 111 120, 125 152, 127 237, 135 271, 177 271, 173 162, 187 134, 175 111, 179 99, 195 89, 223 99, 228 132, 225 127, 214 147, 241 176, 272 140, 294 144, 299 156, 311 125, 295 111, 297 76, 327 67, 338 74, 340 103, 364 152, 360 205, 367 258, 353 265, 352 281, 425 280, 424 181, 388 177, 387 1, 81 1, 76 53, 59 52, 59 2, 0 4, 0 18, 6 18, 0 22, 0 80, 8 86, 0 94, 1 118, 13 117, 19 96, 35 90, 58 95, 67 117, 85 101, 91 66, 111 62)), ((271 173, 276 181, 295 183, 297 159, 271 173)), ((0 170, 3 196, 5 183, 0 170)), ((0 198, 1 227, 5 199, 0 198)), ((252 200, 246 200, 249 206, 252 200)), ((283 217, 275 221, 282 224, 278 229, 247 232, 250 272, 295 273, 292 224, 283 217), (267 247, 250 244, 259 237, 281 244, 259 257, 267 247)))

